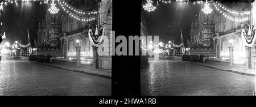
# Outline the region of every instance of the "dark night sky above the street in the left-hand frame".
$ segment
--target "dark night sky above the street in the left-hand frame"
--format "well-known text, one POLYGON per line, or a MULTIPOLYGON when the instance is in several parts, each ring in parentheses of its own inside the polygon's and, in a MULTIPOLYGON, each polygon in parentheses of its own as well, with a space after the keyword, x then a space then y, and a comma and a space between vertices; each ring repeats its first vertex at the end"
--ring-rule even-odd
POLYGON ((36 39, 39 20, 45 19, 48 5, 36 2, 8 3, 4 5, 3 12, 3 32, 6 38, 13 44, 15 40, 22 40, 22 44, 27 44, 27 29, 30 31, 31 42, 36 39))

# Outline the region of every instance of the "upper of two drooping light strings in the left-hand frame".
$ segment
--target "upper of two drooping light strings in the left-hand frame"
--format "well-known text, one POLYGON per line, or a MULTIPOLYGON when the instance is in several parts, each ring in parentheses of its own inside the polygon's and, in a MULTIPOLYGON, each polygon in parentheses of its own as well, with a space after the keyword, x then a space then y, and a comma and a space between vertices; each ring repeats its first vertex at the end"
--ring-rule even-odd
POLYGON ((69 10, 72 10, 73 12, 76 12, 77 14, 97 14, 97 11, 84 11, 84 10, 79 10, 71 5, 69 5, 66 1, 60 0, 60 2, 66 7, 69 8, 69 10))

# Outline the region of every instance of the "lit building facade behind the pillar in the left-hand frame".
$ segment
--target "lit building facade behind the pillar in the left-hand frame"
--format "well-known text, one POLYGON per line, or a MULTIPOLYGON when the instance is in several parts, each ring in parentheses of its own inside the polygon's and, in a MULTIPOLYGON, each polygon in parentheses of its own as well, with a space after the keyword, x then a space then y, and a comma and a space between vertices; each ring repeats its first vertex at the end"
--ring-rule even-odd
MULTIPOLYGON (((97 10, 96 1, 67 1, 72 6, 80 10, 97 10), (96 4, 96 5, 95 5, 96 4)), ((95 14, 83 15, 84 18, 96 16, 95 14)), ((61 16, 62 32, 60 35, 61 50, 65 59, 76 58, 76 46, 81 46, 81 63, 92 64, 93 48, 88 38, 89 28, 96 27, 97 20, 82 22, 63 14, 61 16)))

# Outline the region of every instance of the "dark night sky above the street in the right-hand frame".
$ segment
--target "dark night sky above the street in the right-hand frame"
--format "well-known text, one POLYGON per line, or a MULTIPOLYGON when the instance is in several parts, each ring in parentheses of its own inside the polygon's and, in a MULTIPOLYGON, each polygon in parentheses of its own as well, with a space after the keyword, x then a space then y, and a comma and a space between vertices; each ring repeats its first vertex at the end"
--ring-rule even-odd
MULTIPOLYGON (((148 35, 159 36, 159 41, 166 44, 169 40, 180 43, 180 28, 184 41, 189 37, 192 20, 199 15, 201 5, 193 3, 174 3, 156 5, 154 12, 146 13, 148 35)), ((144 10, 143 10, 144 11, 144 10)))

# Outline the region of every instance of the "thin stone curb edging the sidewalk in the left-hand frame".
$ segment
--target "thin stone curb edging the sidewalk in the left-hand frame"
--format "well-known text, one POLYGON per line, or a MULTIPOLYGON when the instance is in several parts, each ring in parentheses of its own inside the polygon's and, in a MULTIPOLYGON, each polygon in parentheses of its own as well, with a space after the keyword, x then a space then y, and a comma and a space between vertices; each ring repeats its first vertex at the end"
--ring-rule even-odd
MULTIPOLYGON (((25 60, 25 59, 18 59, 18 60, 28 61, 28 60, 25 60)), ((106 78, 106 79, 112 79, 112 76, 108 76, 108 75, 94 74, 94 73, 84 72, 84 71, 79 71, 79 70, 69 70, 69 69, 64 69, 63 67, 52 66, 52 65, 45 65, 45 64, 43 64, 43 63, 38 63, 38 62, 31 62, 31 63, 36 63, 36 64, 38 64, 38 65, 44 65, 44 66, 55 67, 55 68, 57 68, 57 69, 63 69, 63 70, 72 71, 72 72, 79 72, 79 73, 81 73, 81 74, 87 74, 87 75, 92 75, 92 76, 98 76, 98 77, 106 78)))

